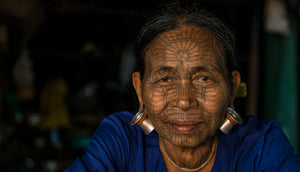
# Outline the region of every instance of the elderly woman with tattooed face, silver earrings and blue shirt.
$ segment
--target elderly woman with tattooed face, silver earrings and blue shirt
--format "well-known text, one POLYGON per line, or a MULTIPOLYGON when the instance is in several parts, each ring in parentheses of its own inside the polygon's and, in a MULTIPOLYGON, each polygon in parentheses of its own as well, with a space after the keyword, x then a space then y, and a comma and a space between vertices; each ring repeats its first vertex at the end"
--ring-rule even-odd
POLYGON ((136 42, 140 111, 105 118, 66 171, 300 171, 276 122, 233 110, 233 51, 228 28, 196 6, 155 15, 136 42))

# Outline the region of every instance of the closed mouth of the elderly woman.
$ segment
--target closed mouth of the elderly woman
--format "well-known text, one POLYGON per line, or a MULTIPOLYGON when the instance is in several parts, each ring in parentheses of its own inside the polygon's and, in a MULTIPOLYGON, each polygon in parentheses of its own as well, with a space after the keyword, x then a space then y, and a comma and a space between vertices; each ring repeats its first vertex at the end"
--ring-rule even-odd
POLYGON ((195 131, 201 124, 201 121, 170 121, 168 124, 176 132, 181 134, 188 134, 195 131))

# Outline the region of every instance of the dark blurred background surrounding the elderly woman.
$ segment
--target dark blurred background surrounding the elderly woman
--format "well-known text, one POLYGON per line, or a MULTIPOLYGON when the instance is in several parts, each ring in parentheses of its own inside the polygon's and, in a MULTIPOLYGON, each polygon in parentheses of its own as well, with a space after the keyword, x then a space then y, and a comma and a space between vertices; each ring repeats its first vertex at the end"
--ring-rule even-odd
MULTIPOLYGON (((62 171, 103 117, 138 110, 132 46, 162 2, 0 1, 1 172, 62 171)), ((299 0, 198 2, 234 33, 237 111, 278 121, 299 152, 299 0)))

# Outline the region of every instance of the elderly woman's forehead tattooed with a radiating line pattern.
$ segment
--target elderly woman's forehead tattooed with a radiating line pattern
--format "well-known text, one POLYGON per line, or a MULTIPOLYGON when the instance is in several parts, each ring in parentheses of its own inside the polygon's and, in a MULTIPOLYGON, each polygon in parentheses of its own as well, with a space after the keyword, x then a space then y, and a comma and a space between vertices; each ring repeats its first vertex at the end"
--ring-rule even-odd
POLYGON ((193 67, 224 63, 223 47, 214 34, 193 26, 183 26, 158 35, 145 55, 146 66, 176 66, 185 62, 193 67))

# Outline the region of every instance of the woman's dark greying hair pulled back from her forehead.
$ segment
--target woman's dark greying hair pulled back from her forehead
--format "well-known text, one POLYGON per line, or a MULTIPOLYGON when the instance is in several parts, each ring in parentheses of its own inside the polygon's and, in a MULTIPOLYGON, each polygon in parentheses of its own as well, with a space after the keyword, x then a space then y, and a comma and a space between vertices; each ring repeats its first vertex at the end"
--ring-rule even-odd
POLYGON ((165 5, 159 12, 156 12, 156 15, 150 17, 137 36, 135 41, 136 70, 141 72, 142 77, 145 70, 147 46, 156 36, 182 25, 195 26, 211 31, 223 45, 228 72, 237 69, 233 35, 229 28, 215 15, 202 9, 199 4, 172 4, 169 6, 165 5))

